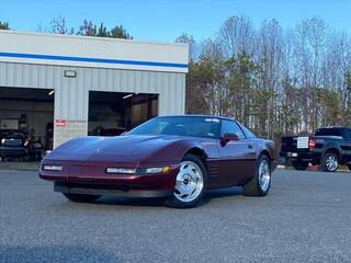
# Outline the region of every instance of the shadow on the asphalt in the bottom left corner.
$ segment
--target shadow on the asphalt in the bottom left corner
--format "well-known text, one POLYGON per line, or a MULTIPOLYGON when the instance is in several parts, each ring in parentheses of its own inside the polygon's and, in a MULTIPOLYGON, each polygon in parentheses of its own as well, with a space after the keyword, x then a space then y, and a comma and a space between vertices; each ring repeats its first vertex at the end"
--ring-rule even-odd
POLYGON ((114 254, 84 245, 0 245, 0 261, 7 263, 33 262, 123 262, 114 254))

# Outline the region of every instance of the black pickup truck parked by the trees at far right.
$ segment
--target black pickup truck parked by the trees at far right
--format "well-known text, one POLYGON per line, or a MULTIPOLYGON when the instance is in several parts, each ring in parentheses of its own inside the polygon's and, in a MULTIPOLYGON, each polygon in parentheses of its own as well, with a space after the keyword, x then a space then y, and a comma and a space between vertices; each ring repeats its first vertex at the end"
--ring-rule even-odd
POLYGON ((296 170, 306 170, 309 163, 326 172, 337 171, 339 164, 351 170, 351 128, 324 127, 314 136, 282 137, 280 156, 296 170))

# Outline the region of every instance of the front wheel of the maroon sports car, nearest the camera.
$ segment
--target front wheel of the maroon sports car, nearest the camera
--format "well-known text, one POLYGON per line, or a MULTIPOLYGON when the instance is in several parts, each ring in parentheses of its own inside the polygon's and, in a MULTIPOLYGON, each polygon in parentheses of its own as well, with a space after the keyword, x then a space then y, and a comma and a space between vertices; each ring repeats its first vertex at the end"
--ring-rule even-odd
POLYGON ((166 205, 176 208, 195 207, 203 199, 208 178, 202 160, 194 155, 185 155, 176 176, 174 191, 166 205))

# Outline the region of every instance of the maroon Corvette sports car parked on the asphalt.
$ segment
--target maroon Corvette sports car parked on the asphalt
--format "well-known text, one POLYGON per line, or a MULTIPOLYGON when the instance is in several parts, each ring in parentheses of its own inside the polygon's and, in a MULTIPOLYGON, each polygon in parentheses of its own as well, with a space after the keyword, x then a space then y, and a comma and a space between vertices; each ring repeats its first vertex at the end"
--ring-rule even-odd
POLYGON ((44 158, 39 176, 73 202, 167 197, 192 207, 211 188, 239 185, 246 195, 267 195, 276 158, 273 141, 233 119, 162 116, 123 136, 69 140, 44 158))

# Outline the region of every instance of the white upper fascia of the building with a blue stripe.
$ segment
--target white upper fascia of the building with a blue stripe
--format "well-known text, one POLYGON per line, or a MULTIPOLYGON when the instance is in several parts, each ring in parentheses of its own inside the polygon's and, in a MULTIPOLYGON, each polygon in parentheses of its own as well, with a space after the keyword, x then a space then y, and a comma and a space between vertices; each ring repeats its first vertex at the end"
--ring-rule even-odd
POLYGON ((0 31, 0 61, 188 72, 188 44, 0 31))

